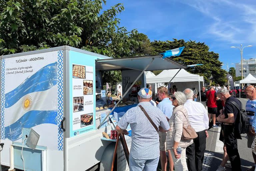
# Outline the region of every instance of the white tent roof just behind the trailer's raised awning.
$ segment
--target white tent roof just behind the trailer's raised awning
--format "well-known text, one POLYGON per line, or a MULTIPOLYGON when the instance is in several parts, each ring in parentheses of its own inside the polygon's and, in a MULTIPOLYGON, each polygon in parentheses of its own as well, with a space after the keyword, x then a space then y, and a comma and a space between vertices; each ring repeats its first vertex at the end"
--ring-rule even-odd
MULTIPOLYGON (((174 77, 174 75, 178 71, 179 69, 163 70, 157 76, 148 77, 147 83, 167 83, 174 77)), ((174 79, 171 82, 189 82, 189 81, 203 81, 203 77, 200 77, 197 74, 190 74, 186 70, 181 69, 180 72, 174 77, 174 79)))

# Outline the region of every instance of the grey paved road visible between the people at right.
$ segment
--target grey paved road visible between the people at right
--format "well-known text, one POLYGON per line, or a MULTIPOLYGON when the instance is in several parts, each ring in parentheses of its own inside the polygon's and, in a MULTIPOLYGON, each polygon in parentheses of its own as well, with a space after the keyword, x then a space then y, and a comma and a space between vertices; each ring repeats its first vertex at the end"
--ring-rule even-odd
MULTIPOLYGON (((243 108, 245 108, 246 101, 248 99, 239 99, 243 108)), ((216 171, 220 165, 223 157, 223 143, 219 141, 220 128, 212 128, 208 131, 209 138, 206 140, 206 152, 203 171, 216 171)), ((241 158, 242 170, 250 168, 254 165, 251 149, 247 148, 246 134, 242 135, 242 140, 238 140, 238 151, 241 158)), ((231 171, 230 168, 226 168, 227 171, 231 171)))

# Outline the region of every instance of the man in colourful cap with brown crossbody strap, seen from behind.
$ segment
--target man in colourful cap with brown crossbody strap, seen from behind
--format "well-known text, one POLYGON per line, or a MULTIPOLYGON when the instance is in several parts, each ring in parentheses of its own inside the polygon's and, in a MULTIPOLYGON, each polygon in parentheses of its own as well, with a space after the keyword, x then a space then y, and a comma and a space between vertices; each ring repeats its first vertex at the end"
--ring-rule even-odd
MULTIPOLYGON (((129 155, 130 171, 156 171, 159 162, 159 130, 170 129, 166 116, 157 107, 151 105, 152 91, 142 88, 138 92, 139 104, 129 109, 117 123, 119 134, 128 134, 126 128, 130 124, 132 145, 129 155), (141 107, 145 110, 155 127, 149 121, 141 107), (157 129, 157 130, 156 130, 157 129)), ((169 100, 169 99, 168 99, 169 100)))

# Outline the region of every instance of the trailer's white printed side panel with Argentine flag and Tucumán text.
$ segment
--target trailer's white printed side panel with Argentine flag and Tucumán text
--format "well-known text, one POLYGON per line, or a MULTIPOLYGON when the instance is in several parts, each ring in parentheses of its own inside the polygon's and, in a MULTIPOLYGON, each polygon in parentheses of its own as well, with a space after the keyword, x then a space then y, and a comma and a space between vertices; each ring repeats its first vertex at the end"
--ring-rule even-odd
POLYGON ((3 67, 1 139, 20 142, 22 128, 33 128, 40 133, 38 145, 62 150, 62 51, 39 54, 39 57, 35 54, 18 59, 7 58, 2 61, 3 67))

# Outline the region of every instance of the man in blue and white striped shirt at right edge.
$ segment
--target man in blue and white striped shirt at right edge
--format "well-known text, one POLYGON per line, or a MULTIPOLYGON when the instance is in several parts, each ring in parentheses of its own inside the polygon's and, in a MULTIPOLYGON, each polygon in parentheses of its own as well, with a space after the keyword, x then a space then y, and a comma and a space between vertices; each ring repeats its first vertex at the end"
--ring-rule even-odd
MULTIPOLYGON (((255 132, 252 130, 252 121, 254 117, 254 112, 256 111, 256 90, 252 85, 246 86, 244 90, 244 94, 246 95, 246 98, 249 100, 246 102, 245 105, 245 111, 250 118, 250 128, 249 132, 247 133, 247 147, 251 148, 254 137, 255 137, 255 132)), ((256 155, 252 152, 252 157, 254 160, 254 166, 252 168, 247 169, 247 171, 254 171, 255 166, 256 166, 256 155)))

